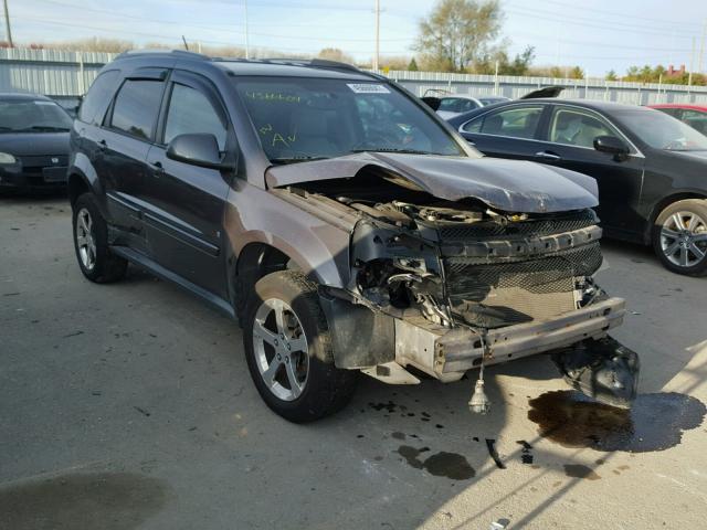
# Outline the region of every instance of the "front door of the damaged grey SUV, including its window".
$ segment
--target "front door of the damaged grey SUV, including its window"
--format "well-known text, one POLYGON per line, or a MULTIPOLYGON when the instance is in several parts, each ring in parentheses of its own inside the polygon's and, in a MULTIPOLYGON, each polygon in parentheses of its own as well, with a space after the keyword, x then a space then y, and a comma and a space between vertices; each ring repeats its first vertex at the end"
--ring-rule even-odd
POLYGON ((232 127, 215 87, 181 71, 170 78, 161 114, 139 192, 150 254, 188 282, 225 298, 222 225, 233 171, 172 160, 167 146, 179 135, 205 132, 217 138, 223 156, 226 150, 233 153, 232 127))

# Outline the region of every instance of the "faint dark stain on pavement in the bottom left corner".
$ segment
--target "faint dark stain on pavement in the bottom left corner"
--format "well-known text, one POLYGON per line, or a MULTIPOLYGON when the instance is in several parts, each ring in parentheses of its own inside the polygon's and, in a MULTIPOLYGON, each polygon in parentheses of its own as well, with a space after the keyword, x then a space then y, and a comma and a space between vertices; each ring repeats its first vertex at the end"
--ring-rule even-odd
POLYGON ((162 509, 169 487, 129 473, 72 474, 0 487, 0 528, 130 530, 162 509))

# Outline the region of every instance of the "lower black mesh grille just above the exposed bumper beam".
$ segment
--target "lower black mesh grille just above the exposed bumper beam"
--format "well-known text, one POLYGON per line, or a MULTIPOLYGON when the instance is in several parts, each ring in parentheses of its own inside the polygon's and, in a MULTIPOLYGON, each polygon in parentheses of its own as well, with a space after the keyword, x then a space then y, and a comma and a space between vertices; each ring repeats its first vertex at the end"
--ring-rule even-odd
POLYGON ((500 327, 576 309, 574 278, 602 263, 599 242, 521 262, 444 258, 453 310, 473 326, 500 327))

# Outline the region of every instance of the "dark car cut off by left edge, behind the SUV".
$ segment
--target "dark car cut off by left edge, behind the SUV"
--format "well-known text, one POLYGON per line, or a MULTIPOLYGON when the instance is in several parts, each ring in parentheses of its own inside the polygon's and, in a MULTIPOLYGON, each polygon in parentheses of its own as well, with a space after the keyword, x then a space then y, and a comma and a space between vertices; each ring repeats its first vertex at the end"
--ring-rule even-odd
POLYGON ((0 190, 66 186, 72 119, 36 94, 0 94, 0 190))

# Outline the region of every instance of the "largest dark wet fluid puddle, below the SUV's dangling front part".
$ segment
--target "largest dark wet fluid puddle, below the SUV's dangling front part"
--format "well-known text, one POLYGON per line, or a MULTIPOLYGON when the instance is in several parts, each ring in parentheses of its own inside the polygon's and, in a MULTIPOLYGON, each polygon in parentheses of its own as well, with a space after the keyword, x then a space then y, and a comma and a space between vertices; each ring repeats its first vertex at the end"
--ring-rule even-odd
POLYGON ((683 432, 698 427, 706 412, 699 400, 675 392, 641 394, 624 410, 560 390, 530 400, 528 418, 542 437, 564 447, 644 453, 679 444, 683 432))

